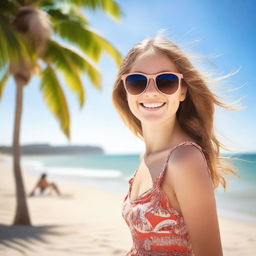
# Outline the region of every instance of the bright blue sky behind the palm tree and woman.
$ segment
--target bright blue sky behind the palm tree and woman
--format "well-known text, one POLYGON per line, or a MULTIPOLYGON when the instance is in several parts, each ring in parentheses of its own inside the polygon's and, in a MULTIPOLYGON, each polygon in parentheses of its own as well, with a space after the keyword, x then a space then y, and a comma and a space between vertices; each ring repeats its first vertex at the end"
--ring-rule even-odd
MULTIPOLYGON (((107 15, 84 10, 91 27, 125 55, 136 42, 165 30, 165 36, 182 49, 208 57, 211 62, 192 62, 221 76, 239 70, 220 84, 225 102, 241 98, 244 110, 216 108, 217 137, 235 151, 256 151, 256 34, 254 1, 231 0, 129 0, 118 1, 124 17, 116 22, 107 15), (240 88, 239 88, 240 87, 240 88), (234 88, 238 88, 233 90, 234 88)), ((61 132, 58 121, 47 109, 34 77, 24 89, 21 144, 89 144, 102 146, 107 153, 141 153, 143 142, 123 124, 111 102, 117 67, 108 55, 99 62, 102 90, 96 90, 83 76, 86 103, 78 100, 63 84, 71 115, 71 141, 61 132)), ((9 79, 0 102, 0 145, 12 141, 15 86, 9 79)))

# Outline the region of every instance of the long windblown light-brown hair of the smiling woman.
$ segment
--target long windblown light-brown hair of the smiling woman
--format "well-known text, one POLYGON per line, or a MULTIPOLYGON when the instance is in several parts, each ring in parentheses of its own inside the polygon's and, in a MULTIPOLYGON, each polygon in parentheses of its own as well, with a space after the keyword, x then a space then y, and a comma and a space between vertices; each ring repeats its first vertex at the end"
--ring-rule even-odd
POLYGON ((214 189, 219 186, 219 183, 226 189, 224 174, 232 173, 240 176, 230 162, 231 157, 219 154, 220 147, 229 149, 214 134, 214 105, 232 110, 238 108, 220 101, 220 97, 209 88, 204 74, 192 65, 185 52, 175 43, 164 37, 156 36, 144 39, 134 45, 124 57, 114 83, 112 102, 115 108, 129 129, 143 140, 141 122, 130 111, 121 75, 128 73, 137 57, 149 49, 167 56, 174 62, 178 72, 183 74, 182 86, 187 86, 187 94, 177 110, 177 121, 182 129, 201 146, 211 170, 214 189))

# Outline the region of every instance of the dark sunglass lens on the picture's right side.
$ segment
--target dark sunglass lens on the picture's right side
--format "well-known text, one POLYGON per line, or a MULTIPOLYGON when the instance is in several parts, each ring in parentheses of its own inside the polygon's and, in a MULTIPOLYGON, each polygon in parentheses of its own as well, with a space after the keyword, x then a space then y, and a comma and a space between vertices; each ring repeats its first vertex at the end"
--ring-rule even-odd
POLYGON ((158 89, 166 94, 175 93, 179 87, 179 78, 174 74, 161 74, 156 77, 158 89))

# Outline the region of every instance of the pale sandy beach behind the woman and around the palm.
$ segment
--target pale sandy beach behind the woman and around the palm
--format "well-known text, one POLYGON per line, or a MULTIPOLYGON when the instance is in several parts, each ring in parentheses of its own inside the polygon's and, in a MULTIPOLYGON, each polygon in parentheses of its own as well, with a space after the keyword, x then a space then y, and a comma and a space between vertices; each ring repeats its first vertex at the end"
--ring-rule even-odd
MULTIPOLYGON (((33 226, 12 226, 15 210, 11 166, 0 155, 0 255, 125 255, 130 231, 121 216, 124 195, 55 180, 63 196, 28 197, 33 226)), ((27 194, 38 179, 26 172, 27 194)), ((225 256, 256 255, 256 224, 219 217, 225 256)))

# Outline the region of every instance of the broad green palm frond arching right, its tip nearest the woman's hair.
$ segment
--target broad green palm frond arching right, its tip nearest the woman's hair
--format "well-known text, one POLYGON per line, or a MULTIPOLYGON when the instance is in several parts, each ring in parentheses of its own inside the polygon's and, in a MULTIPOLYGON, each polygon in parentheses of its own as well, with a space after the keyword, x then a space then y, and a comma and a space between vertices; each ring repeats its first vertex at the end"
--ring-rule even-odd
POLYGON ((121 54, 106 39, 79 22, 61 21, 54 25, 55 32, 67 41, 79 46, 90 58, 98 61, 102 50, 105 50, 116 62, 121 63, 121 54))

